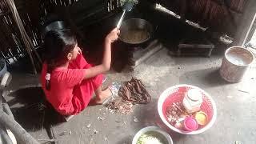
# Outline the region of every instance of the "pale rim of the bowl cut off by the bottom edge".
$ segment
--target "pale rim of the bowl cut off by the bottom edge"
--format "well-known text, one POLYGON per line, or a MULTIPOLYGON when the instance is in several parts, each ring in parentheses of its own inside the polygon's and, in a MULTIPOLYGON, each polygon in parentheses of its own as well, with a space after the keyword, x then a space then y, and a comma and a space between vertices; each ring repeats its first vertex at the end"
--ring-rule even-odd
POLYGON ((150 131, 154 131, 154 132, 157 132, 158 134, 162 134, 163 138, 166 138, 166 142, 168 142, 167 144, 174 144, 172 138, 170 138, 170 135, 167 134, 165 131, 161 130, 157 126, 148 126, 143 128, 142 130, 139 130, 138 133, 135 134, 132 144, 136 144, 138 141, 138 138, 142 134, 145 134, 146 132, 150 132, 150 131))

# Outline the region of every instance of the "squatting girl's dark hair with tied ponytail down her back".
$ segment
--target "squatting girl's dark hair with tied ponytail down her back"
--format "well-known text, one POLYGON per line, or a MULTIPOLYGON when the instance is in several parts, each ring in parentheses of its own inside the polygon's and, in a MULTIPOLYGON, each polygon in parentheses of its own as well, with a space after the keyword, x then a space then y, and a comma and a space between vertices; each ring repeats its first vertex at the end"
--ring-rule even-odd
POLYGON ((50 74, 56 66, 66 62, 66 56, 78 43, 69 29, 50 30, 44 38, 45 58, 47 64, 46 90, 50 90, 50 74))

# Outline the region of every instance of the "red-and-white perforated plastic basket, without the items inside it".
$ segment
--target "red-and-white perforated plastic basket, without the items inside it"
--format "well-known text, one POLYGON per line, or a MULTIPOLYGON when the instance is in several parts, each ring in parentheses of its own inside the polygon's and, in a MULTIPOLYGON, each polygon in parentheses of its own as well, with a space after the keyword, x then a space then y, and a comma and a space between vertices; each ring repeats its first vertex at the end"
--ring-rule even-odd
POLYGON ((180 134, 200 134, 208 129, 210 129, 211 126, 213 126, 216 116, 217 116, 217 109, 214 100, 210 97, 209 94, 206 93, 206 91, 191 85, 177 85, 172 86, 168 89, 166 89, 158 99, 158 114, 160 115, 160 118, 162 119, 162 122, 166 124, 171 130, 174 130, 180 134), (195 131, 184 131, 184 130, 178 130, 174 126, 170 125, 166 118, 166 108, 170 105, 172 105, 174 102, 182 102, 184 98, 184 94, 186 91, 190 89, 198 89, 202 93, 202 105, 201 110, 205 112, 208 116, 208 123, 206 126, 202 126, 198 130, 195 131))

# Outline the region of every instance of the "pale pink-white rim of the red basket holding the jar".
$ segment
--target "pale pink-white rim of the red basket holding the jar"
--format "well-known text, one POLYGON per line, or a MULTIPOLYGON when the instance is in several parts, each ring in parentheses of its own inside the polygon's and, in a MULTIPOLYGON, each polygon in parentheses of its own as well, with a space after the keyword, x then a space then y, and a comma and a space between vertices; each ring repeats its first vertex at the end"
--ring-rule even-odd
POLYGON ((206 91, 198 88, 197 86, 182 84, 182 85, 171 86, 162 92, 162 94, 160 95, 160 98, 158 99, 158 114, 159 114, 160 118, 162 119, 162 122, 164 122, 165 125, 170 128, 170 130, 174 130, 175 132, 177 132, 179 134, 200 134, 206 130, 209 130, 210 127, 214 125, 214 122, 217 118, 217 108, 216 108, 216 104, 215 104, 213 98, 211 98, 210 94, 206 93, 206 91), (176 127, 170 125, 170 123, 167 122, 165 115, 162 113, 162 105, 166 101, 166 98, 168 98, 170 96, 170 94, 172 94, 174 91, 178 90, 178 88, 180 88, 180 87, 190 87, 190 88, 194 88, 194 89, 198 89, 198 90, 202 91, 202 93, 210 100, 210 103, 213 106, 213 116, 212 116, 210 122, 208 122, 206 124, 206 126, 204 126, 200 130, 195 130, 195 131, 179 130, 176 127))

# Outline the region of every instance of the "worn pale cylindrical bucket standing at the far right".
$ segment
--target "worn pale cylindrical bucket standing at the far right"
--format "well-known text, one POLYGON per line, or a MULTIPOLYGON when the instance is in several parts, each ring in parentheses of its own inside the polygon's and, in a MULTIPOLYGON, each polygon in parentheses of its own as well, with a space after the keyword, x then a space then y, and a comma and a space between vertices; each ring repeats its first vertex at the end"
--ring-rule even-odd
POLYGON ((220 74, 227 82, 241 82, 246 70, 254 61, 250 50, 240 46, 233 46, 226 50, 222 59, 220 74))

